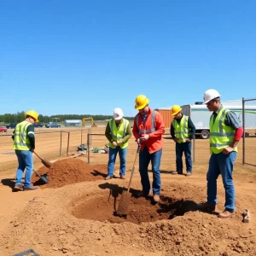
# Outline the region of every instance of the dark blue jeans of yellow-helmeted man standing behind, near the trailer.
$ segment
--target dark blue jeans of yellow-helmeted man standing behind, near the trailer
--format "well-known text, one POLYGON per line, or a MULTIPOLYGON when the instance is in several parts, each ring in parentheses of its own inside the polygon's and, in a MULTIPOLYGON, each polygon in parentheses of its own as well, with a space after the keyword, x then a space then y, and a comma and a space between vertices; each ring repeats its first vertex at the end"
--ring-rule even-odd
POLYGON ((176 143, 176 171, 183 173, 183 152, 185 154, 187 172, 192 172, 191 143, 176 143))

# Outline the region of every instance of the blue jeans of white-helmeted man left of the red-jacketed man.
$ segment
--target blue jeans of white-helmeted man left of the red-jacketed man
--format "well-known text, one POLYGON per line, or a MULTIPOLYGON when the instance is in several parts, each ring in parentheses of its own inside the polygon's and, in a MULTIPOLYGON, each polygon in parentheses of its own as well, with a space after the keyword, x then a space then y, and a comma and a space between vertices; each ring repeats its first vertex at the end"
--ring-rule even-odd
POLYGON ((126 170, 126 155, 127 155, 128 147, 126 148, 110 148, 108 152, 108 176, 113 177, 114 172, 114 164, 116 160, 116 155, 119 153, 119 160, 120 160, 120 168, 119 168, 119 175, 125 176, 126 170))

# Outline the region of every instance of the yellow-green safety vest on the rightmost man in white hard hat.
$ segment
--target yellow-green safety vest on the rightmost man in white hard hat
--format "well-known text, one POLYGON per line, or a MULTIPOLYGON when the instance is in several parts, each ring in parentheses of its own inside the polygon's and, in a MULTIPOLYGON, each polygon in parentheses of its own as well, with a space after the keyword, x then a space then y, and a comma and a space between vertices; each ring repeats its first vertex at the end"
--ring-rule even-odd
MULTIPOLYGON (((227 108, 222 108, 214 123, 213 115, 210 119, 210 151, 211 154, 219 154, 224 148, 229 147, 234 140, 236 130, 224 124, 226 114, 230 112, 227 108)), ((237 152, 237 147, 234 149, 237 152)))

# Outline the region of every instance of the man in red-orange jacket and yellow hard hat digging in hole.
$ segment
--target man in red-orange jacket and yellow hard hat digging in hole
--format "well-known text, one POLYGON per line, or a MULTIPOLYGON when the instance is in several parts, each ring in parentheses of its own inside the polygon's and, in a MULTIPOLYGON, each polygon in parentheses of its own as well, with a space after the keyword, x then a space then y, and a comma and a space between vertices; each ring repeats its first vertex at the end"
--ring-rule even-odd
POLYGON ((135 108, 139 113, 134 118, 132 133, 140 146, 139 172, 143 191, 142 196, 148 196, 150 182, 148 177, 148 165, 151 161, 153 172, 154 201, 160 201, 160 160, 163 148, 162 135, 165 133, 165 124, 159 112, 148 107, 148 98, 144 95, 137 96, 135 108))

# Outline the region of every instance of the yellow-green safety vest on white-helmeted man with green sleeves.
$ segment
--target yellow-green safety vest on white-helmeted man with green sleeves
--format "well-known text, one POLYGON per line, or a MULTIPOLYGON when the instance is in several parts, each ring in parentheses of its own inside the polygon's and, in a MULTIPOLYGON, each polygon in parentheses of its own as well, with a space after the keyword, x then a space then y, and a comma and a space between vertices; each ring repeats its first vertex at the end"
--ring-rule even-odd
MULTIPOLYGON (((127 119, 123 119, 123 121, 120 123, 119 129, 118 129, 118 127, 115 123, 115 120, 114 119, 109 120, 111 136, 116 143, 118 143, 125 137, 128 124, 129 124, 129 121, 127 119)), ((113 146, 113 143, 109 143, 109 147, 115 148, 115 146, 113 146)), ((126 147, 128 147, 128 141, 125 143, 122 143, 120 145, 120 148, 126 148, 126 147)))

